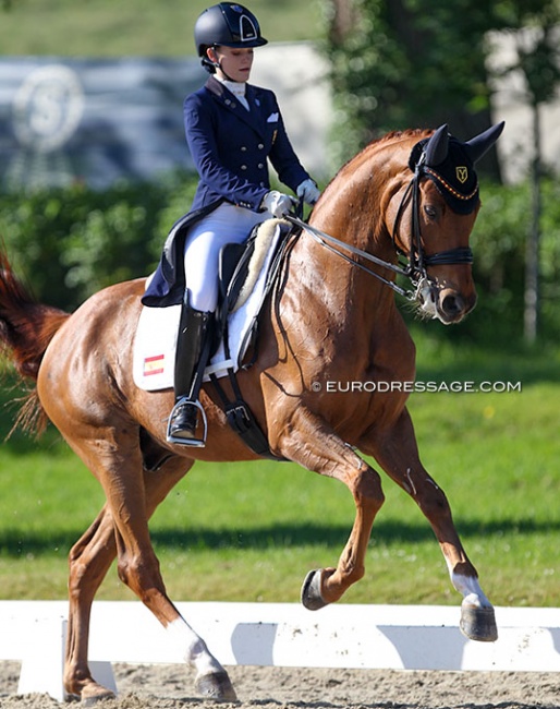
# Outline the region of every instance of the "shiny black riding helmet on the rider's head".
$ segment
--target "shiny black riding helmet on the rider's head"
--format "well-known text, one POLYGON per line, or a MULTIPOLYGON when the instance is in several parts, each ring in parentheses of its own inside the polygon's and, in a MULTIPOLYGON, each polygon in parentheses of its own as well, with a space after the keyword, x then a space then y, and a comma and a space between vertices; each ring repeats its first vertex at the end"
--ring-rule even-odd
POLYGON ((203 67, 214 73, 216 67, 206 57, 208 47, 261 47, 268 39, 260 35, 258 20, 249 10, 235 2, 220 2, 199 15, 194 41, 203 67))

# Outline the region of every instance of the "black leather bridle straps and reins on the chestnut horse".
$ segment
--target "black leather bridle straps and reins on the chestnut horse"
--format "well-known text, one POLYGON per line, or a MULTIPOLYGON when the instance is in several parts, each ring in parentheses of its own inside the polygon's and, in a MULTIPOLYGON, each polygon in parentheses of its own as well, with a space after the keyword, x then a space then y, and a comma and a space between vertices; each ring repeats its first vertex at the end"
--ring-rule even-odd
POLYGON ((425 159, 425 153, 423 152, 418 163, 416 164, 414 176, 409 182, 409 185, 404 191, 403 197, 397 211, 397 217, 394 219, 394 225, 391 233, 391 240, 393 242, 397 253, 403 256, 404 259, 406 259, 406 263, 404 265, 393 264, 390 263, 389 261, 384 261, 382 259, 378 259, 377 256, 374 256, 373 254, 368 253, 367 251, 364 251, 363 249, 353 247, 352 244, 341 241, 340 239, 337 239, 326 233, 325 231, 321 231, 320 229, 316 229, 315 227, 312 227, 306 221, 303 221, 303 219, 301 219, 299 216, 289 214, 285 215, 285 219, 296 225, 301 229, 305 230, 322 247, 325 247, 332 253, 336 253, 341 259, 344 259, 344 261, 348 261, 353 266, 356 266, 357 268, 365 271, 370 276, 374 276, 375 278, 384 283, 386 286, 388 286, 389 288, 398 292, 400 296, 403 296, 410 301, 416 301, 419 295, 426 289, 426 287, 435 286, 434 280, 430 278, 430 276, 426 271, 429 266, 447 266, 452 264, 473 263, 473 252, 468 247, 458 247, 456 249, 438 251, 437 253, 429 254, 429 255, 426 255, 424 251, 424 248, 422 245, 422 231, 419 226, 419 183, 423 178, 426 178, 426 173, 424 169, 424 159, 425 159), (409 254, 406 254, 400 247, 397 245, 395 233, 411 195, 412 195, 412 238, 411 238, 411 251, 409 254), (352 259, 352 256, 348 255, 348 253, 343 253, 341 249, 346 252, 350 252, 352 255, 357 256, 358 259, 363 259, 364 261, 373 263, 376 266, 382 266, 384 268, 387 268, 388 271, 391 271, 397 275, 409 278, 412 286, 414 287, 414 290, 405 290, 404 288, 401 288, 393 280, 390 280, 389 278, 385 278, 376 271, 373 271, 372 268, 361 263, 360 261, 352 259))

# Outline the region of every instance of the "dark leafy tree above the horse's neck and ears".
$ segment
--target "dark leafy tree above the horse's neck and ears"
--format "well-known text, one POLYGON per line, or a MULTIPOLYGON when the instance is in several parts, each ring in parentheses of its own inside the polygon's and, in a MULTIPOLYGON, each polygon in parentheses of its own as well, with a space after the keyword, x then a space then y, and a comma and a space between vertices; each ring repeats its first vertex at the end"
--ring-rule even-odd
MULTIPOLYGON (((487 2, 331 0, 330 7, 327 51, 344 125, 334 136, 339 159, 389 130, 448 123, 467 137, 488 127, 485 36, 496 16, 487 2)), ((495 157, 486 167, 499 178, 495 157)))

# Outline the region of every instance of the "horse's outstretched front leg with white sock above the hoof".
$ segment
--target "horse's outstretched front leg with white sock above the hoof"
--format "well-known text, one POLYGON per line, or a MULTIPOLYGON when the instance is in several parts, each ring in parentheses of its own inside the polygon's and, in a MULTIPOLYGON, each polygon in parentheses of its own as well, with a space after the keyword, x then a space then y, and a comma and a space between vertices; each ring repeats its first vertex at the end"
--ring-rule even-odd
POLYGON ((375 426, 360 442, 386 472, 417 503, 441 546, 453 587, 463 596, 461 630, 473 640, 498 637, 494 608, 478 582, 478 574, 459 539, 446 494, 419 461, 412 420, 406 409, 386 431, 375 426))

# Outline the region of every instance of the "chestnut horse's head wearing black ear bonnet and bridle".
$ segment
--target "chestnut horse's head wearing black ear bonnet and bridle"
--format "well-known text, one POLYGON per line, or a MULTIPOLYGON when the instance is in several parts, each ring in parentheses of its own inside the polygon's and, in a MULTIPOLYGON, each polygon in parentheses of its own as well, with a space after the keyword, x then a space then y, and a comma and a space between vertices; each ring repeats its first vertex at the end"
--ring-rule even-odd
POLYGON ((462 143, 442 125, 414 145, 413 177, 391 201, 393 241, 409 257, 419 310, 445 324, 458 323, 476 303, 468 247, 480 206, 474 165, 502 130, 503 122, 462 143))

